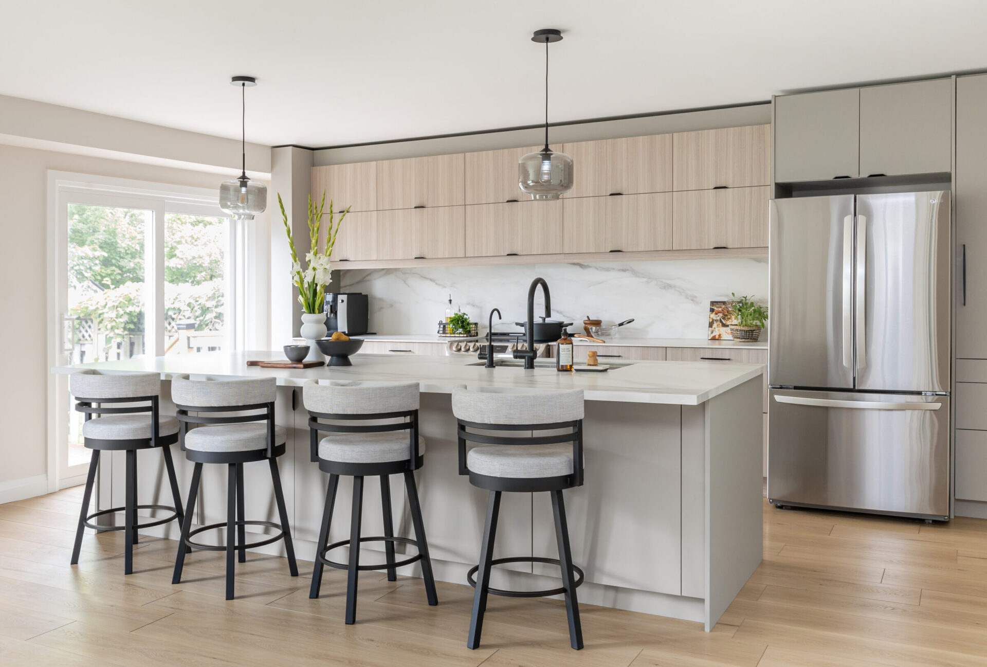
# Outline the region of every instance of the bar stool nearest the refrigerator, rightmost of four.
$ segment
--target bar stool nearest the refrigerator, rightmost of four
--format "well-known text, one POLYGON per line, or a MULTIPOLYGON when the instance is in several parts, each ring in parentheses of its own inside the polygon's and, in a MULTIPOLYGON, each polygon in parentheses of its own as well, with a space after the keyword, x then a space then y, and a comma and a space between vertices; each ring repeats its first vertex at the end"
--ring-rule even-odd
POLYGON ((457 388, 452 393, 452 412, 458 422, 459 474, 469 475, 470 483, 490 491, 480 562, 466 575, 469 584, 476 588, 466 645, 470 648, 480 646, 488 594, 521 598, 565 595, 569 643, 576 650, 582 648, 582 626, 575 589, 582 583, 583 575, 582 570, 572 564, 562 493, 563 489, 582 485, 582 391, 493 394, 457 388), (478 429, 483 432, 473 432, 478 429), (551 435, 534 433, 562 429, 567 429, 567 432, 551 435), (532 434, 519 434, 523 431, 532 431, 532 434), (477 446, 467 451, 467 441, 477 446), (552 493, 559 559, 493 557, 493 539, 500 510, 500 493, 503 491, 552 493), (491 588, 491 567, 504 562, 559 565, 563 585, 542 591, 491 588))

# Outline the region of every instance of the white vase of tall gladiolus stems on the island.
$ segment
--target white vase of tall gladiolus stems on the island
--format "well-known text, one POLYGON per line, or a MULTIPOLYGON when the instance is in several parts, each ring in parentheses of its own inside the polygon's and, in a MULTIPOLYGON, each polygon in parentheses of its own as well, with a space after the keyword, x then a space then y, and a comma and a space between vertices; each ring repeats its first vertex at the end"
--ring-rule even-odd
POLYGON ((305 361, 323 361, 322 352, 316 346, 315 341, 326 337, 329 333, 326 329, 326 314, 323 312, 323 303, 326 300, 326 285, 332 282, 330 272, 330 259, 333 256, 333 246, 336 245, 336 237, 340 233, 342 219, 349 212, 349 207, 342 211, 340 219, 335 219, 333 211, 333 200, 329 201, 329 229, 326 231, 326 240, 323 250, 319 250, 319 240, 322 231, 323 209, 326 206, 326 192, 323 190, 322 202, 318 206, 312 201, 309 195, 308 205, 308 228, 309 228, 309 252, 305 254, 305 265, 298 259, 298 252, 295 250, 295 241, 291 236, 291 225, 288 224, 288 214, 284 210, 284 202, 281 201, 281 194, 277 194, 277 203, 281 207, 281 218, 284 222, 284 232, 288 235, 288 249, 291 251, 291 280, 298 287, 298 301, 302 305, 302 337, 309 345, 308 356, 305 361))

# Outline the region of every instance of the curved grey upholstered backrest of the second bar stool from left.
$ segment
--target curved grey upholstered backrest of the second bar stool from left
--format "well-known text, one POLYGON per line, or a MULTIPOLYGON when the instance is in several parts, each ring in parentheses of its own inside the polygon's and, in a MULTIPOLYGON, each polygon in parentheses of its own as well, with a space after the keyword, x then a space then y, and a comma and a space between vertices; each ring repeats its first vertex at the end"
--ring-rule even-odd
POLYGON ((172 380, 172 401, 178 410, 179 445, 185 451, 185 436, 189 424, 237 424, 266 421, 267 456, 273 455, 274 400, 277 381, 274 378, 243 378, 237 380, 191 380, 180 375, 172 380), (190 412, 238 412, 247 414, 208 416, 190 412))

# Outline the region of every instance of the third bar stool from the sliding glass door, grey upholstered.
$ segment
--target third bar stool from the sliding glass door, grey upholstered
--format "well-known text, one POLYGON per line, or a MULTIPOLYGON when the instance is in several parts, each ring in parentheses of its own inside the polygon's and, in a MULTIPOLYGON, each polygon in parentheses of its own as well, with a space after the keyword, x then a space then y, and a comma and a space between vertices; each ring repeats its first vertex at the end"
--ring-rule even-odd
POLYGON ((309 380, 303 387, 302 397, 310 415, 312 461, 318 461, 319 470, 329 473, 329 488, 326 492, 326 506, 319 531, 319 544, 316 548, 315 569, 312 572, 309 597, 319 597, 324 565, 347 570, 346 624, 352 625, 356 622, 356 583, 357 575, 361 570, 387 569, 388 580, 395 581, 398 578, 396 568, 420 561, 428 604, 437 605, 435 579, 432 577, 428 542, 425 540, 421 505, 418 502, 418 486, 415 483, 415 471, 421 467, 425 451, 425 439, 418 435, 418 383, 319 384, 315 380, 309 380), (363 423, 325 423, 321 419, 363 423), (369 420, 375 420, 375 423, 366 423, 369 420), (321 442, 320 431, 330 433, 321 442), (349 539, 330 545, 327 544, 329 529, 333 520, 333 505, 336 503, 336 491, 341 475, 353 478, 349 539), (408 502, 415 526, 415 540, 394 536, 391 487, 388 477, 390 475, 405 476, 408 502), (368 476, 380 477, 384 535, 379 537, 360 537, 363 478, 368 476), (363 542, 383 542, 387 562, 361 565, 359 544, 363 542), (418 554, 396 561, 395 543, 416 547, 418 554), (338 562, 326 557, 330 551, 343 546, 350 546, 348 562, 338 562))

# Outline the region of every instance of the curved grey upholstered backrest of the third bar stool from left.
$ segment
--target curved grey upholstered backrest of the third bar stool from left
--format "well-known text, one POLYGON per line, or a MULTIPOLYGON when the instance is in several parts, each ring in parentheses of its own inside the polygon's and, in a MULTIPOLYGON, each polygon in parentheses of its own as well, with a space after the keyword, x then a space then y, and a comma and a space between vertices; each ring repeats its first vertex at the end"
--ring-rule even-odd
POLYGON ((418 383, 320 383, 302 387, 302 402, 309 411, 311 458, 319 460, 319 432, 382 433, 409 431, 410 468, 418 468, 418 383), (349 423, 326 423, 323 419, 349 423), (353 421, 374 423, 353 424, 353 421))

